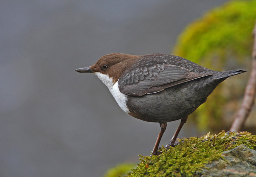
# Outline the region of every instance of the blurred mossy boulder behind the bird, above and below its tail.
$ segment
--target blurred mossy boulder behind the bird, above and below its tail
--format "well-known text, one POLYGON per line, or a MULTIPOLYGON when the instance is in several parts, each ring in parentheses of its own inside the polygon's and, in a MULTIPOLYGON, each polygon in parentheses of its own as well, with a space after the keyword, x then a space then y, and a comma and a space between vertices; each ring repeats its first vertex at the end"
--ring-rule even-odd
MULTIPOLYGON (((235 0, 210 10, 185 28, 173 54, 212 70, 248 70, 250 62, 246 62, 246 59, 250 61, 251 58, 255 7, 256 0, 235 0)), ((199 130, 212 131, 218 127, 219 132, 226 129, 225 125, 230 127, 224 118, 238 109, 237 100, 243 96, 246 76, 234 76, 232 81, 224 81, 208 101, 190 116, 190 119, 198 122, 199 130), (232 90, 232 94, 227 90, 232 90)))

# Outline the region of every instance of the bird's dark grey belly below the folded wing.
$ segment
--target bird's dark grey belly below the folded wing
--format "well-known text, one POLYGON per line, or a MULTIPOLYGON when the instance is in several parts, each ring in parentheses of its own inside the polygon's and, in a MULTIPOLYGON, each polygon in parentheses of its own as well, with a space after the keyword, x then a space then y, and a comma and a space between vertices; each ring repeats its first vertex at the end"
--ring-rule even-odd
POLYGON ((190 81, 161 92, 142 97, 129 96, 130 115, 150 122, 168 122, 184 118, 204 103, 217 84, 206 85, 190 81))

